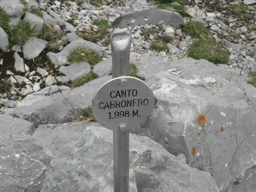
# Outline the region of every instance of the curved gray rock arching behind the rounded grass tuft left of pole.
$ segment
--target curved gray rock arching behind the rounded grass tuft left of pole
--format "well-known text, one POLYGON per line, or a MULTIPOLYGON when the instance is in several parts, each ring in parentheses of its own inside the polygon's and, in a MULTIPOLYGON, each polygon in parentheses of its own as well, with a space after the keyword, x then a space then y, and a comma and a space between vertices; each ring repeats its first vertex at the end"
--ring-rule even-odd
POLYGON ((79 47, 93 49, 99 54, 101 54, 102 50, 102 47, 98 46, 96 43, 79 38, 78 40, 74 40, 66 47, 64 47, 61 52, 48 52, 46 55, 49 57, 54 65, 62 66, 68 61, 68 55, 70 54, 70 52, 79 47))

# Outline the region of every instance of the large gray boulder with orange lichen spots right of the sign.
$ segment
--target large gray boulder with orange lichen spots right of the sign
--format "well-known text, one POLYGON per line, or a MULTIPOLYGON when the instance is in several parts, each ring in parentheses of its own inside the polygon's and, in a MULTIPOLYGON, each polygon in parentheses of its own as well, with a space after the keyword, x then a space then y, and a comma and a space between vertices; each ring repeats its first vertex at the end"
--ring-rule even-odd
POLYGON ((224 191, 256 166, 256 88, 225 68, 192 58, 172 62, 148 80, 156 106, 136 132, 185 154, 224 191))

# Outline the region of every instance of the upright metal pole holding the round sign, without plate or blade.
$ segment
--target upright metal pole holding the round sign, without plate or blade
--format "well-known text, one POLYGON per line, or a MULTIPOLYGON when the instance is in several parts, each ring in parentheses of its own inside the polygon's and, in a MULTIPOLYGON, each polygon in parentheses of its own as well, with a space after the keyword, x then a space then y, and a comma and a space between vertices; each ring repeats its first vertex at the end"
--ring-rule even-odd
MULTIPOLYGON (((114 28, 110 35, 112 49, 112 76, 129 76, 130 30, 114 28)), ((114 149, 114 192, 129 191, 129 130, 120 125, 120 131, 113 131, 114 149)))

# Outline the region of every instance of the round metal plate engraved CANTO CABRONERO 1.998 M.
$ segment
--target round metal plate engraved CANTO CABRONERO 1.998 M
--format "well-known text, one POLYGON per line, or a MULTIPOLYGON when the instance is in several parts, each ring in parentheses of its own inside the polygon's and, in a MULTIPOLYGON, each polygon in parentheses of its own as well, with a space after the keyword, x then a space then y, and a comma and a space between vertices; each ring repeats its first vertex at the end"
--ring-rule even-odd
POLYGON ((143 124, 154 108, 154 94, 142 80, 122 76, 103 84, 92 99, 92 111, 104 127, 119 131, 143 124))

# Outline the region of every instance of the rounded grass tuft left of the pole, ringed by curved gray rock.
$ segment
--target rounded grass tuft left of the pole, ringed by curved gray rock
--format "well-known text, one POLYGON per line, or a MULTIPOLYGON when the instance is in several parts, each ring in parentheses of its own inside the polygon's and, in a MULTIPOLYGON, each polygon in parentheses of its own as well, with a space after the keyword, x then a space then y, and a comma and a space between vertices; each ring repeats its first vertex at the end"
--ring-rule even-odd
POLYGON ((100 55, 92 50, 87 48, 76 48, 68 56, 68 60, 72 63, 75 62, 88 62, 90 65, 95 65, 98 62, 102 61, 100 55))

